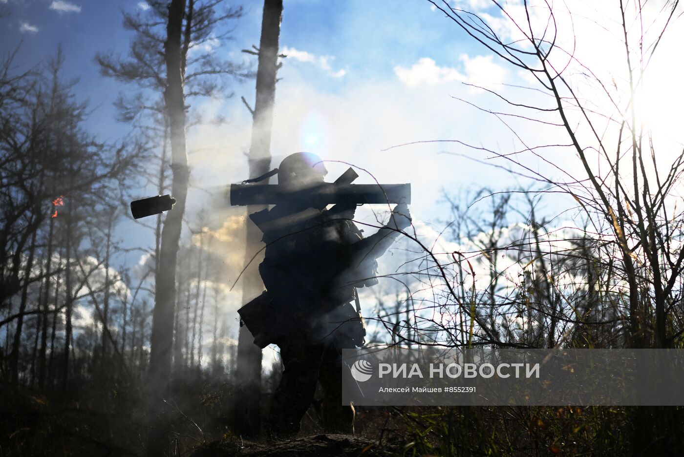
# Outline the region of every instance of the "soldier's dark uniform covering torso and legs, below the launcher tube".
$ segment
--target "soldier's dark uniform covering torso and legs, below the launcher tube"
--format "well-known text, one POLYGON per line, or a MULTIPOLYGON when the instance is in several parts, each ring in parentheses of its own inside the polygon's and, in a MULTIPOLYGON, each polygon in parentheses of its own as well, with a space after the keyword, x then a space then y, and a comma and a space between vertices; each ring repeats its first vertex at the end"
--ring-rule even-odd
MULTIPOLYGON (((272 217, 278 220, 278 214, 272 217)), ((259 266, 273 297, 271 333, 285 368, 269 427, 276 435, 296 434, 320 382, 325 430, 350 432, 353 413, 341 401, 341 350, 363 345, 354 286, 373 281, 375 260, 360 258, 363 235, 351 221, 326 211, 300 223, 289 223, 297 218, 287 213, 283 219, 265 234, 265 260, 259 266)))

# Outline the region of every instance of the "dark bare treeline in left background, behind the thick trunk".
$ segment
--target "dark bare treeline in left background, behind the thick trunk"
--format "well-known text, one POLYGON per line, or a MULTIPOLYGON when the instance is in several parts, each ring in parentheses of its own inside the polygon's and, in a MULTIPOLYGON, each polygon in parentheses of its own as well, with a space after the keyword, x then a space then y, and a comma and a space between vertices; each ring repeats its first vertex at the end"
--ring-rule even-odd
MULTIPOLYGON (((131 414, 144 398, 163 219, 148 227, 156 240, 151 250, 124 247, 118 229, 130 219, 131 187, 151 183, 153 192, 168 193, 170 159, 163 110, 150 110, 120 141, 103 143, 84 126, 90 107, 79 101, 77 81, 62 76, 68 57, 58 50, 18 72, 17 52, 5 54, 0 69, 2 449, 12 435, 16 452, 34 455, 43 452, 40 439, 22 430, 44 427, 40 433, 50 436, 64 432, 60 426, 78 428, 53 423, 50 408, 81 404, 111 413, 116 396, 127 399, 131 414), (20 400, 34 400, 15 404, 17 391, 30 393, 20 400), (38 422, 12 419, 12 408, 29 413, 34 406, 38 422)), ((199 405, 210 393, 202 383, 225 383, 222 376, 234 371, 237 346, 222 306, 223 261, 212 253, 219 242, 201 217, 193 225, 199 228, 179 248, 173 376, 197 386, 192 398, 199 405)), ((120 420, 131 426, 125 414, 120 420)), ((130 447, 144 448, 146 430, 134 422, 130 447)))

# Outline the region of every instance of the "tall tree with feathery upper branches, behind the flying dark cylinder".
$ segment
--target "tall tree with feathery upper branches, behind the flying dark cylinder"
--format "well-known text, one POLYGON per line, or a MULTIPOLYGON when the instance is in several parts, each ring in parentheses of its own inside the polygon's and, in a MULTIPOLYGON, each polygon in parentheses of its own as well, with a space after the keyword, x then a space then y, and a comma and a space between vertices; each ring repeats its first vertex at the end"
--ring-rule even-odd
MULTIPOLYGON (((209 41, 228 37, 218 25, 241 16, 241 8, 230 8, 220 0, 150 1, 146 17, 124 13, 124 27, 135 32, 128 58, 113 53, 98 54, 101 72, 125 83, 136 83, 142 92, 120 96, 118 107, 125 120, 141 113, 161 114, 163 135, 170 143, 171 193, 174 210, 166 215, 157 247, 155 308, 150 352, 150 385, 162 398, 168 395, 171 374, 176 306, 176 260, 183 228, 189 184, 187 164, 187 99, 226 94, 225 76, 245 75, 241 67, 200 51, 209 41), (219 8, 224 7, 223 12, 219 8), (192 51, 192 52, 191 52, 192 51), (162 102, 159 103, 159 96, 162 102)), ((159 187, 163 186, 163 164, 159 187)), ((161 221, 158 219, 157 225, 161 221)), ((187 331, 187 328, 185 329, 187 331)), ((161 427, 163 428, 163 426, 161 427)), ((149 452, 161 454, 166 446, 163 433, 150 434, 149 452)))

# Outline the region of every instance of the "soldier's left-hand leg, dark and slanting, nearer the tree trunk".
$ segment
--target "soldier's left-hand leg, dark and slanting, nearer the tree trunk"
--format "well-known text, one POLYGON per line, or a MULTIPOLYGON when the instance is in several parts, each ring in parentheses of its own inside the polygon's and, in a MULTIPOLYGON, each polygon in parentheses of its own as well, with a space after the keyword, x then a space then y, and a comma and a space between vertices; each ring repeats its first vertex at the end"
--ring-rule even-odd
POLYGON ((313 400, 319 375, 321 348, 289 343, 280 348, 284 370, 269 413, 269 433, 294 437, 313 400))

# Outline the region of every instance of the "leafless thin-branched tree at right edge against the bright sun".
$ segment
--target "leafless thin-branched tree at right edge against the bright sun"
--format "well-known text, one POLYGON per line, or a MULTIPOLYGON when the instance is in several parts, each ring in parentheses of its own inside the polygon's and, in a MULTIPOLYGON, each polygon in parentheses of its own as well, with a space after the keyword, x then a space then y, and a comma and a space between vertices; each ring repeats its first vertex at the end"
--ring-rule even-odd
MULTIPOLYGON (((506 36, 508 32, 502 31, 501 23, 495 25, 490 14, 452 8, 446 1, 430 3, 535 81, 531 89, 542 94, 539 102, 518 102, 490 90, 508 104, 508 110, 486 111, 500 120, 517 116, 564 137, 566 144, 555 149, 577 156, 583 176, 561 169, 564 180, 551 179, 526 167, 514 154, 492 153, 579 204, 590 220, 592 238, 598 241, 599 258, 619 278, 604 284, 611 288, 610 294, 624 297, 616 318, 624 321, 628 346, 679 347, 684 335, 684 214, 681 205, 677 207, 681 196, 676 189, 684 172, 684 150, 659 141, 642 120, 639 105, 649 65, 681 16, 679 1, 654 8, 642 2, 614 2, 609 27, 616 26, 612 31, 619 37, 623 61, 621 68, 611 69, 612 79, 599 68, 589 68, 577 55, 573 7, 564 12, 548 2, 515 6, 493 2, 498 10, 495 20, 503 21, 503 30, 510 31, 511 36, 506 36)), ((538 146, 528 146, 521 135, 517 138, 525 152, 548 161, 538 146)), ((553 297, 547 301, 553 305, 553 297)), ((557 313, 557 308, 551 313, 557 313)), ((663 445, 657 437, 668 430, 668 420, 663 418, 669 413, 661 411, 659 419, 655 415, 646 419, 644 411, 640 408, 636 414, 635 453, 646 448, 655 451, 663 445)))

